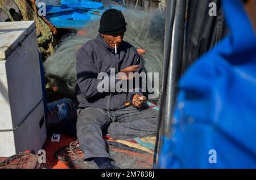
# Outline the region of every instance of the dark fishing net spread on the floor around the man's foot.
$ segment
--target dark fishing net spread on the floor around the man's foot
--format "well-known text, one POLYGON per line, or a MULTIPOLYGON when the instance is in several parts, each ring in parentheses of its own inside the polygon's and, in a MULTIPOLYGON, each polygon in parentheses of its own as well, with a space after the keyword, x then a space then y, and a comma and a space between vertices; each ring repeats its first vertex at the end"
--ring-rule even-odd
MULTIPOLYGON (((114 159, 115 165, 122 169, 150 169, 153 166, 153 154, 140 149, 129 147, 125 144, 106 140, 109 154, 114 159)), ((84 161, 84 155, 80 149, 79 142, 71 142, 60 148, 55 157, 71 169, 96 169, 93 161, 84 161)))

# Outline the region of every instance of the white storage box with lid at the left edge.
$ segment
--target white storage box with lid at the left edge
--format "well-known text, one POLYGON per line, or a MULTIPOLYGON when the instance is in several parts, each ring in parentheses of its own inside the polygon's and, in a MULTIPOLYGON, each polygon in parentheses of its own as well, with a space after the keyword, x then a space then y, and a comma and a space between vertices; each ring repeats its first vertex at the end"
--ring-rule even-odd
POLYGON ((46 136, 35 22, 0 23, 0 157, 37 153, 46 136))

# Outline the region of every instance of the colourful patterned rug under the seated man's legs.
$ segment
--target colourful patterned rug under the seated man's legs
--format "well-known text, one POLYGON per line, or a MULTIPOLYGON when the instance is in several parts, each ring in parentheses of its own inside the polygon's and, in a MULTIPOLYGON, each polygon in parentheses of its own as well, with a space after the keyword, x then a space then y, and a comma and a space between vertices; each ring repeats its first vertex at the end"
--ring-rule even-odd
MULTIPOLYGON (((159 107, 147 102, 149 108, 159 110, 159 107)), ((123 169, 151 169, 154 160, 156 137, 134 138, 130 140, 115 140, 109 135, 103 137, 109 147, 110 156, 115 165, 123 169)), ((94 162, 83 160, 79 142, 74 141, 55 152, 57 160, 72 169, 94 169, 94 162)))

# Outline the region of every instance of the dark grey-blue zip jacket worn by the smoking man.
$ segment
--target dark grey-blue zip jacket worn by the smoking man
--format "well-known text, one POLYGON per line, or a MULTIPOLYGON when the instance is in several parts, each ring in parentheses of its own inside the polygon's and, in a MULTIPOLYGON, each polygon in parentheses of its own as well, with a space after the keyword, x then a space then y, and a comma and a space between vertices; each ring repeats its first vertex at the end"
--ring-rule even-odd
MULTIPOLYGON (((125 102, 130 101, 135 93, 100 93, 97 85, 101 82, 97 79, 100 72, 110 74, 110 68, 115 68, 115 74, 123 68, 135 65, 139 58, 137 50, 128 42, 123 41, 118 47, 117 54, 103 37, 98 35, 93 40, 86 42, 76 54, 77 71, 77 100, 79 108, 94 107, 101 109, 117 110, 125 108, 125 102)), ((142 61, 138 72, 143 72, 142 61)), ((118 82, 108 87, 113 88, 118 82)))

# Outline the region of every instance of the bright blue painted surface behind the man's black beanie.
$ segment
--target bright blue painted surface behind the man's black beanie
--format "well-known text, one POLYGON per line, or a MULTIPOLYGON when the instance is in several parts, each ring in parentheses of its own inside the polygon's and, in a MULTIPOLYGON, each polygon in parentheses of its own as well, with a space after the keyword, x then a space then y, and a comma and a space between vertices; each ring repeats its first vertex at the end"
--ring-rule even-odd
POLYGON ((89 0, 62 0, 60 6, 46 7, 46 18, 57 28, 82 29, 88 22, 99 19, 109 8, 127 10, 113 5, 106 8, 100 2, 89 0))

